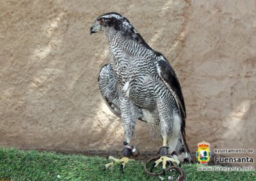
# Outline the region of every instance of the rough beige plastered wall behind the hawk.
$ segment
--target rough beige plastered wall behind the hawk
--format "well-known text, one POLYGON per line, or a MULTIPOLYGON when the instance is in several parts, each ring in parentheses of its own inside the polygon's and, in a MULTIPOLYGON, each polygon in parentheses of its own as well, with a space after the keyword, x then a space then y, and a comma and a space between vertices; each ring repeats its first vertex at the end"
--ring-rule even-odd
MULTIPOLYGON (((89 29, 102 13, 127 17, 175 69, 188 111, 192 151, 255 148, 255 1, 2 1, 0 145, 121 150, 122 122, 97 85, 108 44, 89 29)), ((134 145, 156 151, 159 136, 138 122, 134 145)))

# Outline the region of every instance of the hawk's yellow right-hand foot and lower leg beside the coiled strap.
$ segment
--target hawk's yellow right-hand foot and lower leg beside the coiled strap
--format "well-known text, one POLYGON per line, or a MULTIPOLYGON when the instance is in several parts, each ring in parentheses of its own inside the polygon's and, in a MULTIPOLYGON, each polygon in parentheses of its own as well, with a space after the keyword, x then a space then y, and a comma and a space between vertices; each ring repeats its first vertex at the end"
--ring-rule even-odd
POLYGON ((172 164, 180 163, 179 161, 173 159, 172 157, 168 157, 168 148, 169 147, 167 147, 167 137, 164 136, 163 137, 163 147, 161 147, 158 152, 160 158, 157 159, 157 161, 155 161, 154 164, 152 164, 150 172, 152 172, 153 169, 156 168, 160 163, 162 163, 164 172, 166 170, 167 163, 172 163, 172 164))

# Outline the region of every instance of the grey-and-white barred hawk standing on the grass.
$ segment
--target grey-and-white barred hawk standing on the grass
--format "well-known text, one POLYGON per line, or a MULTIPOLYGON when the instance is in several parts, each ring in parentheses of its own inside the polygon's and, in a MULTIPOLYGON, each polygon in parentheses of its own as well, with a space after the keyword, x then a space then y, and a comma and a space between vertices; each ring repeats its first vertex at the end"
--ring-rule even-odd
POLYGON ((119 13, 106 13, 95 20, 90 34, 102 32, 108 38, 109 64, 99 73, 99 89, 109 109, 124 122, 121 170, 131 161, 136 121, 158 127, 163 138, 159 163, 191 162, 185 139, 186 108, 180 83, 166 58, 148 46, 129 20, 119 13))

